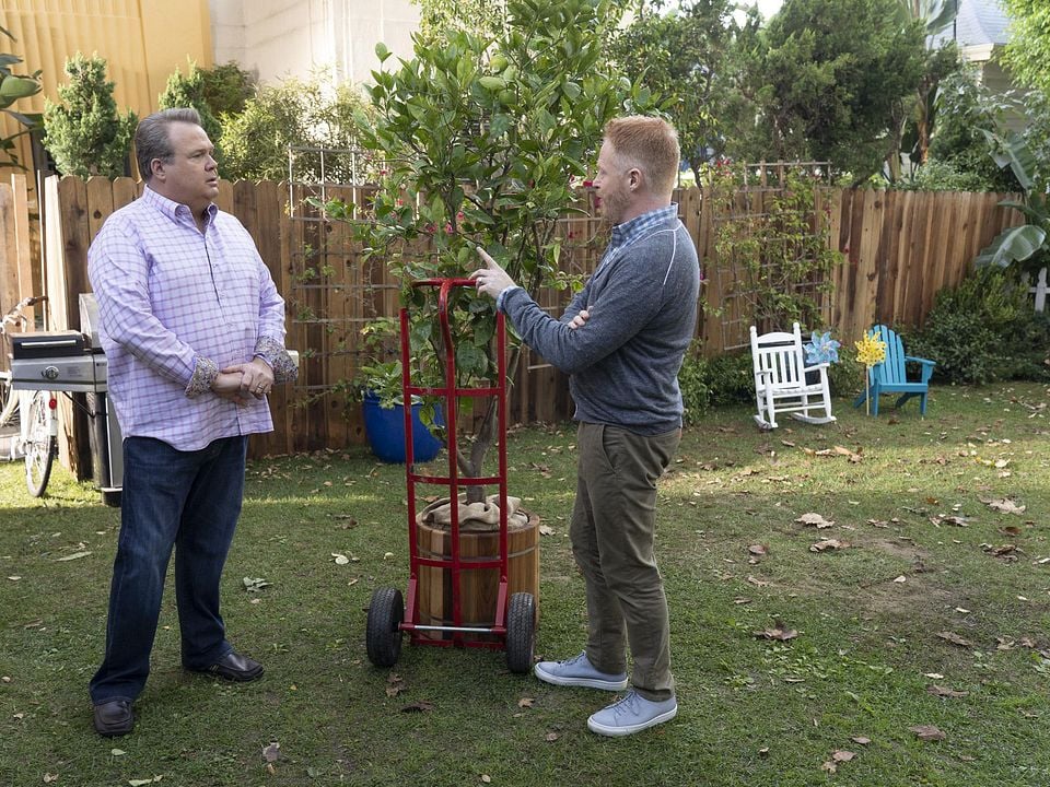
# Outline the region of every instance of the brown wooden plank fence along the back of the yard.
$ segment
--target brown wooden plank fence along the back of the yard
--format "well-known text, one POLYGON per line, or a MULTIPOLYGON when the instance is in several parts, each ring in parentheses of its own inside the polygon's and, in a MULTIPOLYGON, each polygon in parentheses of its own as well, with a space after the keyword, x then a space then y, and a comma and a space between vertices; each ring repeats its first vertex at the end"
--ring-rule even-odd
MULTIPOLYGON (((141 186, 128 178, 48 178, 44 188, 44 282, 49 296, 48 327, 79 329, 78 295, 88 292, 88 246, 105 219, 132 200, 141 186)), ((0 189, 0 214, 5 211, 0 189)), ((217 202, 236 215, 255 238, 259 254, 288 303, 290 348, 302 363, 295 386, 275 390, 275 432, 254 438, 252 454, 340 448, 363 441, 360 408, 348 403, 339 381, 353 378, 365 352, 360 329, 397 309, 398 284, 376 260, 365 260, 345 224, 324 222, 305 205, 302 187, 276 183, 222 183, 217 202), (332 390, 332 386, 337 386, 332 390)), ((360 189, 326 187, 325 197, 362 199, 360 189)), ((825 314, 843 343, 875 321, 921 325, 937 290, 959 282, 977 252, 1001 230, 1017 224, 1016 212, 998 207, 1003 195, 877 190, 822 191, 816 215, 830 224, 831 243, 843 252, 825 314)), ((720 291, 714 259, 720 218, 705 210, 698 189, 676 195, 679 212, 696 239, 707 272, 709 307, 697 337, 707 355, 740 343, 723 330, 716 307, 732 296, 720 291)), ((0 215, 0 230, 10 220, 0 215)), ((606 242, 600 221, 571 215, 559 228, 563 267, 586 274, 606 242)), ((7 262, 4 271, 8 270, 7 262)), ((7 274, 3 279, 7 279, 7 274)), ((24 290, 23 290, 24 292, 24 290)), ((568 295, 546 292, 540 303, 557 312, 568 295)), ((526 352, 514 381, 511 420, 552 421, 571 414, 564 377, 526 352)), ((74 470, 86 458, 83 424, 65 423, 72 448, 63 460, 74 470)))

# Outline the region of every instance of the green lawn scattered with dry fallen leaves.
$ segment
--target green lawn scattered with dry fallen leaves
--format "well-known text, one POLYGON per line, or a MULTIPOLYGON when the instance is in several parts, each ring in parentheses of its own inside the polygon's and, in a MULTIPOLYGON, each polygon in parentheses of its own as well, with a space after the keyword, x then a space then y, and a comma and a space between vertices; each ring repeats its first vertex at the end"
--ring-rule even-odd
MULTIPOLYGON (((405 589, 408 548, 404 468, 364 448, 249 466, 224 616, 266 677, 184 673, 168 598, 136 730, 102 739, 86 683, 119 514, 65 471, 32 500, 0 465, 0 785, 1050 785, 1050 389, 937 388, 925 420, 886 404, 687 431, 658 526, 679 715, 619 740, 586 729, 610 695, 511 674, 498 651, 406 641, 371 666, 369 599, 405 589), (813 551, 826 539, 849 545, 813 551), (777 626, 797 636, 757 635, 777 626)), ((509 439, 512 491, 553 530, 550 658, 585 627, 573 444, 568 424, 509 439)))

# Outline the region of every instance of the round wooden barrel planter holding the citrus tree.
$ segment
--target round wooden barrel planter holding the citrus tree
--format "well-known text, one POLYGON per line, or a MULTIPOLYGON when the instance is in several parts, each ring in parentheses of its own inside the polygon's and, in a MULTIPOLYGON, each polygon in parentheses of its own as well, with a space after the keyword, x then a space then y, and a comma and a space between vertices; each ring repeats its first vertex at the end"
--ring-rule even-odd
MULTIPOLYGON (((523 512, 525 513, 525 512, 523 512)), ((506 531, 508 567, 506 597, 528 592, 536 602, 536 619, 539 620, 539 517, 528 514, 525 524, 509 524, 506 531)), ((416 518, 417 548, 420 557, 452 557, 452 532, 423 521, 423 514, 416 518)), ((499 560, 500 531, 459 531, 460 560, 499 560)), ((418 621, 421 625, 451 626, 452 571, 438 566, 419 567, 418 621)), ((500 591, 499 568, 459 569, 460 625, 491 626, 495 620, 495 603, 500 591)), ((451 639, 451 632, 420 632, 420 638, 451 639)), ((464 639, 499 642, 491 634, 465 634, 464 639)))

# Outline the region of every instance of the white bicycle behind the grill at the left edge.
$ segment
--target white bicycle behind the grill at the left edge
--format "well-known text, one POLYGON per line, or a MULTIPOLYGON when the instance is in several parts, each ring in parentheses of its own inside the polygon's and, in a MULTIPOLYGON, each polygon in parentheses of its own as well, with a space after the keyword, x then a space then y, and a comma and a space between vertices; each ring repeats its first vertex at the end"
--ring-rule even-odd
MULTIPOLYGON (((25 328, 25 309, 43 303, 46 295, 22 298, 0 320, 0 336, 7 341, 12 328, 25 328)), ((8 355, 10 359, 10 355, 8 355)), ((40 497, 51 478, 51 465, 58 453, 58 399, 51 391, 14 390, 11 372, 0 372, 0 427, 18 426, 19 436, 11 444, 11 459, 25 459, 25 485, 30 494, 40 497)))

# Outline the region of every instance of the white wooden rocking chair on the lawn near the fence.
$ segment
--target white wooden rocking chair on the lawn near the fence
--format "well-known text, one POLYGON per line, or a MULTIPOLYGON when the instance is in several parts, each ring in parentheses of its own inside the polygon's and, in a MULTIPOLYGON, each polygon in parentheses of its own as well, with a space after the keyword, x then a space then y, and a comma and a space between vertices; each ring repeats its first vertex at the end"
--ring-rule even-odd
POLYGON ((755 366, 755 423, 761 430, 777 428, 777 414, 791 413, 805 423, 826 424, 831 414, 828 364, 806 366, 802 332, 774 331, 758 336, 751 326, 751 361, 755 366), (807 381, 806 373, 812 374, 807 381))

